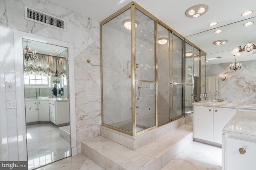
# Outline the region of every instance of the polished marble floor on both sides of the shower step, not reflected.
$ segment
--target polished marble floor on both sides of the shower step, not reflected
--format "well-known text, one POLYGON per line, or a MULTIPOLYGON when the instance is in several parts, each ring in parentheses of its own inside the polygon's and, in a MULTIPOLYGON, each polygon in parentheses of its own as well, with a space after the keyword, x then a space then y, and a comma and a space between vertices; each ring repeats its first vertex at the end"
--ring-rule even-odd
MULTIPOLYGON (((221 148, 193 141, 161 170, 221 170, 221 148)), ((103 170, 83 154, 68 157, 38 170, 103 170)))

